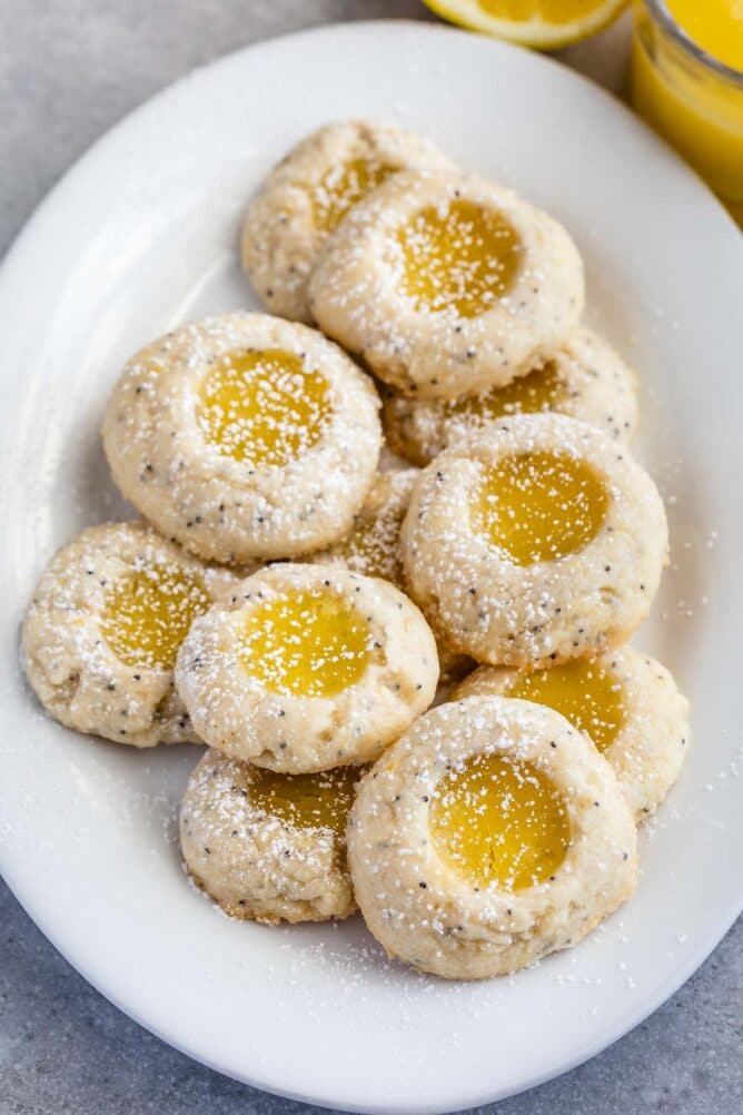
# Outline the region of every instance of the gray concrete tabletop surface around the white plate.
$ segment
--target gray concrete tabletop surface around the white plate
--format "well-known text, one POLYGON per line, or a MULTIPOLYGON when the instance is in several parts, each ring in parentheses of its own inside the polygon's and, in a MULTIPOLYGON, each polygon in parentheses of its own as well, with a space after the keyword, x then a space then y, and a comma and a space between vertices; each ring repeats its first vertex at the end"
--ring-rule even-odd
MULTIPOLYGON (((59 175, 150 94, 235 47, 341 19, 429 18, 416 0, 0 0, 0 253, 59 175)), ((622 33, 622 32, 619 32, 622 33)), ((616 35, 616 32, 615 32, 616 35)), ((615 85, 618 37, 569 60, 615 85)), ((643 1026, 489 1115, 739 1115, 743 922, 643 1026)), ((299 1115, 119 1014, 0 883, 0 1115, 299 1115)))

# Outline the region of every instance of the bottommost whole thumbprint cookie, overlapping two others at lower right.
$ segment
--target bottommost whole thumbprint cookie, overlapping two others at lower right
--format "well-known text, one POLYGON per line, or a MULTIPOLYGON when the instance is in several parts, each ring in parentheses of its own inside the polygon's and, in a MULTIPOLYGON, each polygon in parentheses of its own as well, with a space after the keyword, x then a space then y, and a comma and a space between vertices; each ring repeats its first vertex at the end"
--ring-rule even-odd
POLYGON ((636 831, 612 768, 545 706, 421 717, 361 782, 349 865, 364 920, 421 971, 483 979, 567 948, 629 896, 636 831))

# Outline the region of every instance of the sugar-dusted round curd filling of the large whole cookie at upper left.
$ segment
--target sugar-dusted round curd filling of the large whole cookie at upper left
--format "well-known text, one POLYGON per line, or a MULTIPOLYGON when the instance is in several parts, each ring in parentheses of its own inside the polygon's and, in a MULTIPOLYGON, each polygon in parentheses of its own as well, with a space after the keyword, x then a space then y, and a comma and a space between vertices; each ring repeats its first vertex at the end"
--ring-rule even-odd
POLYGON ((331 413, 327 380, 282 349, 231 352, 204 376, 196 417, 221 454, 282 466, 322 437, 331 413))

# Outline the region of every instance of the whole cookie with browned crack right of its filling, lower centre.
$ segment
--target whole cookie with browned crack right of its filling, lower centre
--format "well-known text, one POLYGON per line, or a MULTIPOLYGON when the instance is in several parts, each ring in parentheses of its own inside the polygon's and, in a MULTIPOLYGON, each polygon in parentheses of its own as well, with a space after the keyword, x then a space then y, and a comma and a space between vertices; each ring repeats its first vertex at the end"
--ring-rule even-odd
POLYGON ((273 565, 197 620, 176 666, 196 731, 290 774, 368 763, 431 704, 436 641, 378 578, 273 565))

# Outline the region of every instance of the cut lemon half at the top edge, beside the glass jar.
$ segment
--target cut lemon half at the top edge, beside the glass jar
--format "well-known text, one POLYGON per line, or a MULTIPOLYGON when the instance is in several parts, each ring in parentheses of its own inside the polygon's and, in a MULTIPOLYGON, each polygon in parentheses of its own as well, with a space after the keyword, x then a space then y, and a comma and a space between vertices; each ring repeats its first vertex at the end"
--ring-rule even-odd
POLYGON ((437 16, 525 47, 554 50, 600 31, 627 0, 423 0, 437 16))

